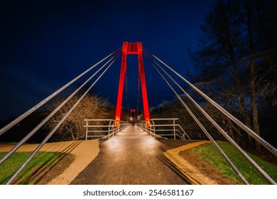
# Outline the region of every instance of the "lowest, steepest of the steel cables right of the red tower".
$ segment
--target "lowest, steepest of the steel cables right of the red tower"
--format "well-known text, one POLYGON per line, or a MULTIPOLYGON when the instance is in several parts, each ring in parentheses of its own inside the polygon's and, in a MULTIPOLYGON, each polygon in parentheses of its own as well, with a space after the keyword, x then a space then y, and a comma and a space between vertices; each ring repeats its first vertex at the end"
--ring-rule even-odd
POLYGON ((222 151, 222 149, 220 148, 220 146, 217 144, 216 141, 214 141, 214 139, 212 138, 212 136, 210 135, 210 133, 207 131, 207 129, 205 129, 205 127, 201 124, 201 122, 197 119, 197 117, 195 117, 195 114, 192 113, 192 111, 190 110, 190 108, 187 106, 187 104, 185 104, 185 102, 183 101, 183 99, 181 99, 181 97, 178 95, 178 93, 173 89, 173 87, 169 84, 169 82, 165 79, 165 77, 161 74, 161 72, 158 70, 158 68, 156 68, 155 65, 153 65, 153 67, 158 71, 158 73, 161 75, 161 77, 163 77, 163 80, 165 80, 165 82, 168 84, 168 86, 170 87, 170 89, 174 92, 174 94, 176 95, 176 97, 178 97, 179 101, 181 102, 181 104, 183 104, 183 107, 185 107, 185 109, 190 113, 191 117, 195 120, 195 122, 198 124, 198 126, 202 129, 202 131, 206 134, 206 136, 208 137, 208 139, 210 139, 210 141, 212 141, 212 144, 214 144, 214 146, 216 147, 217 151, 219 151, 219 153, 224 157, 224 159, 227 161, 227 163, 229 163, 229 165, 232 167, 232 169, 234 170, 235 173, 237 173, 237 176, 239 176, 239 178, 241 179, 241 181, 244 184, 249 184, 248 181, 246 181, 246 179, 244 178, 244 176, 242 176, 242 174, 239 172, 239 170, 237 169, 237 167, 234 165, 234 163, 232 163, 232 161, 229 159, 229 157, 224 153, 224 151, 222 151))

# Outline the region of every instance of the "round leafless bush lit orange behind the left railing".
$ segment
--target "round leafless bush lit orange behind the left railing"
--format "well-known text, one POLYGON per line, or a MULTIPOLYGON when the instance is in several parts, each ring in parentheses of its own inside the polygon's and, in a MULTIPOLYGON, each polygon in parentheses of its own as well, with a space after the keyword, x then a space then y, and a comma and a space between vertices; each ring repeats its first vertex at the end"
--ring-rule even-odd
MULTIPOLYGON (((71 109, 79 97, 72 97, 47 123, 48 129, 53 129, 60 119, 71 109)), ((56 100, 48 108, 48 112, 58 107, 64 99, 56 100)), ((85 138, 84 119, 107 119, 108 102, 107 99, 97 95, 86 95, 82 101, 75 107, 65 122, 56 131, 55 138, 60 140, 79 140, 85 138)))

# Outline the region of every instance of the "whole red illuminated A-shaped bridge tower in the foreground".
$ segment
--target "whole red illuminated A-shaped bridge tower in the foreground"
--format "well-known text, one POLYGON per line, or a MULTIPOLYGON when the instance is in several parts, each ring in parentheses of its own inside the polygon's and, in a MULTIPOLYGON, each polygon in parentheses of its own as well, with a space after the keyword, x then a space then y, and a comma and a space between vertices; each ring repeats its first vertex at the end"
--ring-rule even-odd
POLYGON ((141 77, 141 92, 142 92, 142 99, 143 99, 143 112, 144 112, 144 119, 146 124, 150 124, 150 114, 148 108, 148 98, 146 92, 146 80, 143 68, 143 55, 142 55, 142 43, 129 43, 124 42, 122 45, 122 59, 121 59, 121 69, 120 69, 120 76, 119 76, 119 92, 117 95, 117 103, 116 103, 116 123, 115 125, 118 126, 120 119, 121 119, 121 105, 122 105, 122 95, 124 89, 124 77, 126 73, 127 67, 127 55, 128 54, 136 54, 139 58, 139 76, 141 77))

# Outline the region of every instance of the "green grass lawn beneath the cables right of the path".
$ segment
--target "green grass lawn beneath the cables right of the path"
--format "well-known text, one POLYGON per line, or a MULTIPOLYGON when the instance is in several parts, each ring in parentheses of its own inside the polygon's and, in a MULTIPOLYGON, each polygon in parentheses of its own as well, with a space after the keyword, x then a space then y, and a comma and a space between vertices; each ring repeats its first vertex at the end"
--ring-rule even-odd
MULTIPOLYGON (((254 166, 252 166, 251 163, 249 163, 249 161, 247 161, 246 158, 244 158, 244 156, 242 156, 239 151, 237 151, 237 149, 234 149, 234 147, 229 144, 229 142, 217 141, 217 144, 219 144, 220 148, 222 148, 225 154, 227 154, 234 165, 237 166, 241 174, 244 176, 244 178, 246 178, 246 181, 254 185, 269 184, 264 176, 261 176, 261 174, 256 171, 254 166)), ((213 144, 205 144, 190 150, 200 155, 202 159, 217 168, 217 171, 222 173, 223 176, 231 178, 237 184, 242 184, 237 174, 234 173, 231 166, 229 166, 227 161, 225 161, 225 159, 219 154, 213 144)), ((249 156, 251 156, 251 158, 254 159, 254 161, 256 161, 256 163, 258 163, 259 166, 261 166, 261 168, 263 168, 264 171, 266 171, 266 173, 268 173, 268 175, 277 182, 276 165, 268 163, 267 161, 264 161, 252 154, 249 154, 249 156)))

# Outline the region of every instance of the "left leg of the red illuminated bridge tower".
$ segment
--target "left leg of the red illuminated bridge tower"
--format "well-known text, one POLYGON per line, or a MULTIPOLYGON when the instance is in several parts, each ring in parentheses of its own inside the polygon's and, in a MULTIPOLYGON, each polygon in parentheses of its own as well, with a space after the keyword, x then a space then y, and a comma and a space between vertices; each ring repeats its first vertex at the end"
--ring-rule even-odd
POLYGON ((127 61, 127 46, 128 42, 124 42, 122 45, 122 59, 121 59, 121 68, 119 75, 119 92, 117 93, 117 102, 116 102, 116 117, 115 117, 115 126, 118 127, 121 118, 121 105, 122 105, 122 95, 124 89, 124 77, 126 72, 126 61, 127 61))

